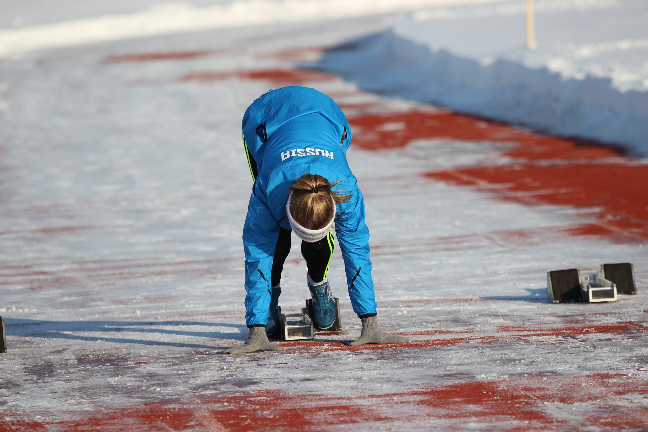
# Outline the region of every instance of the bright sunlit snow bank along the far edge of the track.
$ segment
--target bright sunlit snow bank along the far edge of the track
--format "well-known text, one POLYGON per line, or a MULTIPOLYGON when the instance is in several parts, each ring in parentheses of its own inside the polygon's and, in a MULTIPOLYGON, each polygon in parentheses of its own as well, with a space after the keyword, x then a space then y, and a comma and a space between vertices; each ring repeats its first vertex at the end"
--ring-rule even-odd
POLYGON ((467 0, 235 0, 228 5, 204 7, 173 3, 133 14, 111 14, 3 30, 0 31, 0 57, 159 34, 391 14, 453 3, 467 3, 467 0))

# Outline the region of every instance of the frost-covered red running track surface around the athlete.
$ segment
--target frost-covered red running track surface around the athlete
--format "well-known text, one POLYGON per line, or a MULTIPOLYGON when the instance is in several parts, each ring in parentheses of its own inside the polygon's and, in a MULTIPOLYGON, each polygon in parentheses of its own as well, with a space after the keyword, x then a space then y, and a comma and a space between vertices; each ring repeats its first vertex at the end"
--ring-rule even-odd
MULTIPOLYGON (((0 430, 645 426, 645 161, 295 66, 379 28, 248 27, 0 62, 0 430), (246 337, 240 117, 287 84, 351 120, 379 321, 411 343, 345 344, 360 321, 336 252, 341 332, 221 354, 246 337), (570 174, 590 168, 601 185, 570 174), (638 295, 546 302, 546 271, 627 261, 638 295)), ((297 310, 296 241, 284 271, 280 303, 297 310)))

